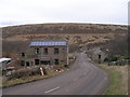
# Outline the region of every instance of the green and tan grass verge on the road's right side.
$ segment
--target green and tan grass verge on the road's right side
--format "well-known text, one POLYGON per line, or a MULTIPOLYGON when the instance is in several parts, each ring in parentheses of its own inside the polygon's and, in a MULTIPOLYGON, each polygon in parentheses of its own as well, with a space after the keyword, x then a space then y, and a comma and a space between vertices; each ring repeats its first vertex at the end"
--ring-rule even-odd
POLYGON ((101 64, 99 67, 108 72, 109 84, 104 95, 128 95, 128 66, 110 66, 101 64))

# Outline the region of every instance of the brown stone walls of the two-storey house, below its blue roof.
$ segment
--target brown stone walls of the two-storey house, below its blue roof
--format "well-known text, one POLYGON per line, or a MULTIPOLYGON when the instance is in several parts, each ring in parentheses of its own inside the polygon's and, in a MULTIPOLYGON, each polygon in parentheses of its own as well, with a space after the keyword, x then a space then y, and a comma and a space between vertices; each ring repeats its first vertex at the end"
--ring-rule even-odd
MULTIPOLYGON (((43 57, 50 58, 50 64, 54 65, 54 60, 58 59, 60 65, 66 65, 67 64, 67 46, 38 46, 38 47, 28 47, 28 50, 25 53, 25 56, 22 57, 21 52, 21 60, 24 60, 25 63, 29 63, 29 65, 35 65, 35 59, 41 59, 43 57), (39 53, 36 54, 35 48, 39 48, 39 53), (43 50, 48 48, 48 54, 43 53, 43 50), (58 54, 54 54, 54 48, 58 48, 58 54)), ((26 66, 26 65, 25 65, 26 66)))

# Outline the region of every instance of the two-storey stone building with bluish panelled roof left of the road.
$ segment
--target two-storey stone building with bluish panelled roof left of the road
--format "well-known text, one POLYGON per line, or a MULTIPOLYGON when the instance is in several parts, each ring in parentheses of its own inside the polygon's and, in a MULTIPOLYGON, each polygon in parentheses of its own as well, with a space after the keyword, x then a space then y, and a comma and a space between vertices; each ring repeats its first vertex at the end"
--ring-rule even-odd
POLYGON ((21 66, 68 65, 67 41, 31 41, 25 52, 21 52, 21 66))

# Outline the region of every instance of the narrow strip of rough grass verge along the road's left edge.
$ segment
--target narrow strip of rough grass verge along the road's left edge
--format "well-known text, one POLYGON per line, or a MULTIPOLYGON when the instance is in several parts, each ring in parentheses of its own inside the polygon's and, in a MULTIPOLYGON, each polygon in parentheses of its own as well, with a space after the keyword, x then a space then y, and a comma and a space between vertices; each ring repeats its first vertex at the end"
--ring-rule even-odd
MULTIPOLYGON (((72 54, 72 55, 74 56, 75 54, 72 54)), ((69 60, 70 67, 74 64, 74 61, 75 61, 75 59, 69 60)), ((13 86, 13 85, 29 83, 29 82, 43 80, 43 79, 51 78, 51 77, 55 77, 55 75, 62 73, 62 72, 55 71, 56 69, 61 69, 61 70, 63 69, 62 72, 68 70, 63 65, 57 65, 53 69, 48 69, 47 70, 47 73, 48 73, 47 75, 37 74, 37 75, 31 75, 31 77, 22 77, 21 79, 4 80, 4 81, 2 81, 2 84, 0 84, 0 87, 9 87, 9 86, 13 86)))

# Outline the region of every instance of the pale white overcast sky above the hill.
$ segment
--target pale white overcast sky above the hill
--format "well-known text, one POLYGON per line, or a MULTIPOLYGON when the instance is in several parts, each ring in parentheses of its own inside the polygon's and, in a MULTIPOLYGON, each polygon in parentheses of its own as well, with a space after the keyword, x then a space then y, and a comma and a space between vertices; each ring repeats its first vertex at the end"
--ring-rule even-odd
POLYGON ((129 0, 0 0, 0 27, 42 23, 128 24, 129 0))

